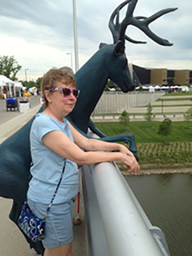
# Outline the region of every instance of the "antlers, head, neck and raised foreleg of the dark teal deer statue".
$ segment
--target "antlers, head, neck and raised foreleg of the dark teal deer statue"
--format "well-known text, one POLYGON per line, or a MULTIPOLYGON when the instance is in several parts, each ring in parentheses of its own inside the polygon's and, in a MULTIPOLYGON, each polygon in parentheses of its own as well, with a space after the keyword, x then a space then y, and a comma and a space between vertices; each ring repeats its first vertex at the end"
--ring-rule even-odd
POLYGON ((125 55, 125 40, 135 44, 145 44, 146 42, 132 40, 125 35, 127 26, 136 26, 148 37, 157 42, 157 44, 172 45, 168 40, 164 40, 155 35, 148 28, 148 25, 165 13, 173 12, 177 10, 177 8, 161 10, 148 18, 141 16, 133 17, 134 8, 136 7, 137 2, 138 0, 127 0, 120 4, 112 13, 111 18, 109 19, 109 29, 113 35, 113 44, 100 44, 99 51, 97 51, 92 58, 77 71, 77 88, 81 93, 74 110, 67 116, 67 119, 85 134, 89 127, 93 133, 101 138, 101 140, 129 142, 129 150, 131 150, 136 158, 136 145, 132 134, 126 133, 111 137, 106 136, 97 129, 92 120, 90 120, 90 116, 92 115, 100 96, 104 92, 108 79, 111 79, 111 81, 116 83, 124 93, 133 89, 132 79, 125 55), (129 5, 125 19, 119 23, 120 10, 128 3, 129 5), (115 18, 116 23, 114 22, 115 18))

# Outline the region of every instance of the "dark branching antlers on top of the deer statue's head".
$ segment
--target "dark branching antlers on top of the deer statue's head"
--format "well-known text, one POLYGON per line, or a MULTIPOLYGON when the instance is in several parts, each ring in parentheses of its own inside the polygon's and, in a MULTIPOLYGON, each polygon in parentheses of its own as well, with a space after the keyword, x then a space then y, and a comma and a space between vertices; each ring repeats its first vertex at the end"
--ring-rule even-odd
POLYGON ((118 40, 122 40, 122 42, 125 42, 125 40, 128 40, 129 42, 132 42, 134 44, 146 44, 146 42, 132 40, 129 36, 125 35, 127 26, 132 25, 132 26, 135 26, 136 28, 141 29, 141 31, 143 31, 145 35, 147 35, 149 38, 154 40, 154 42, 156 42, 157 44, 166 45, 166 46, 173 45, 168 40, 163 39, 157 36, 156 34, 154 34, 148 28, 148 25, 154 20, 163 16, 164 14, 169 12, 174 12, 175 10, 177 10, 177 8, 167 8, 155 13, 150 17, 143 17, 143 16, 133 17, 133 12, 137 2, 138 0, 127 0, 124 3, 120 4, 112 13, 109 19, 109 29, 111 30, 111 33, 113 35, 114 43, 116 43, 118 40), (119 12, 128 3, 129 5, 127 8, 127 13, 125 15, 125 19, 122 20, 121 23, 119 23, 119 12), (116 24, 114 23, 115 16, 116 16, 116 24))

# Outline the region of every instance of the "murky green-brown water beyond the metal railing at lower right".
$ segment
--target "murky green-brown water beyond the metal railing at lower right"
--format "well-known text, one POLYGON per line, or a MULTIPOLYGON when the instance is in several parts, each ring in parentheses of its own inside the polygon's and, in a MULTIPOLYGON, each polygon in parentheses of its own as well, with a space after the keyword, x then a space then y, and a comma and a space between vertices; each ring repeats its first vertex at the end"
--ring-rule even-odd
POLYGON ((192 175, 126 176, 152 225, 163 230, 171 256, 192 255, 192 175))

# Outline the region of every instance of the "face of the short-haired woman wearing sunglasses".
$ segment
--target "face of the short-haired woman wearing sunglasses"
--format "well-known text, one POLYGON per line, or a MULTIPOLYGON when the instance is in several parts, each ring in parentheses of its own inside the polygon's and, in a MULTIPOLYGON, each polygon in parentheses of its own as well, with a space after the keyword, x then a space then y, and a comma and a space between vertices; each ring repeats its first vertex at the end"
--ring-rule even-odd
MULTIPOLYGON (((62 82, 58 82, 56 88, 72 88, 71 84, 63 84, 62 82)), ((54 109, 58 114, 64 116, 67 116, 73 109, 76 104, 76 97, 74 97, 73 93, 70 93, 69 96, 64 97, 61 90, 52 92, 51 95, 51 102, 49 102, 49 106, 51 105, 51 108, 54 109)))

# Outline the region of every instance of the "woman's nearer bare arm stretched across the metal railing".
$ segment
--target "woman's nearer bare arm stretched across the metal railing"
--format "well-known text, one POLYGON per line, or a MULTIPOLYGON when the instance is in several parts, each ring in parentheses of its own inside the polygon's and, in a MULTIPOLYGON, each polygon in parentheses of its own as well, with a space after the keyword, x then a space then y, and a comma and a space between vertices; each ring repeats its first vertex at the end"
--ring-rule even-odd
MULTIPOLYGON (((51 131, 42 138, 46 147, 77 164, 95 164, 108 161, 122 161, 129 172, 136 173, 139 165, 134 156, 124 152, 84 152, 61 131, 51 131)), ((114 148, 115 149, 115 148, 114 148)), ((103 150, 103 149, 102 149, 103 150)))

